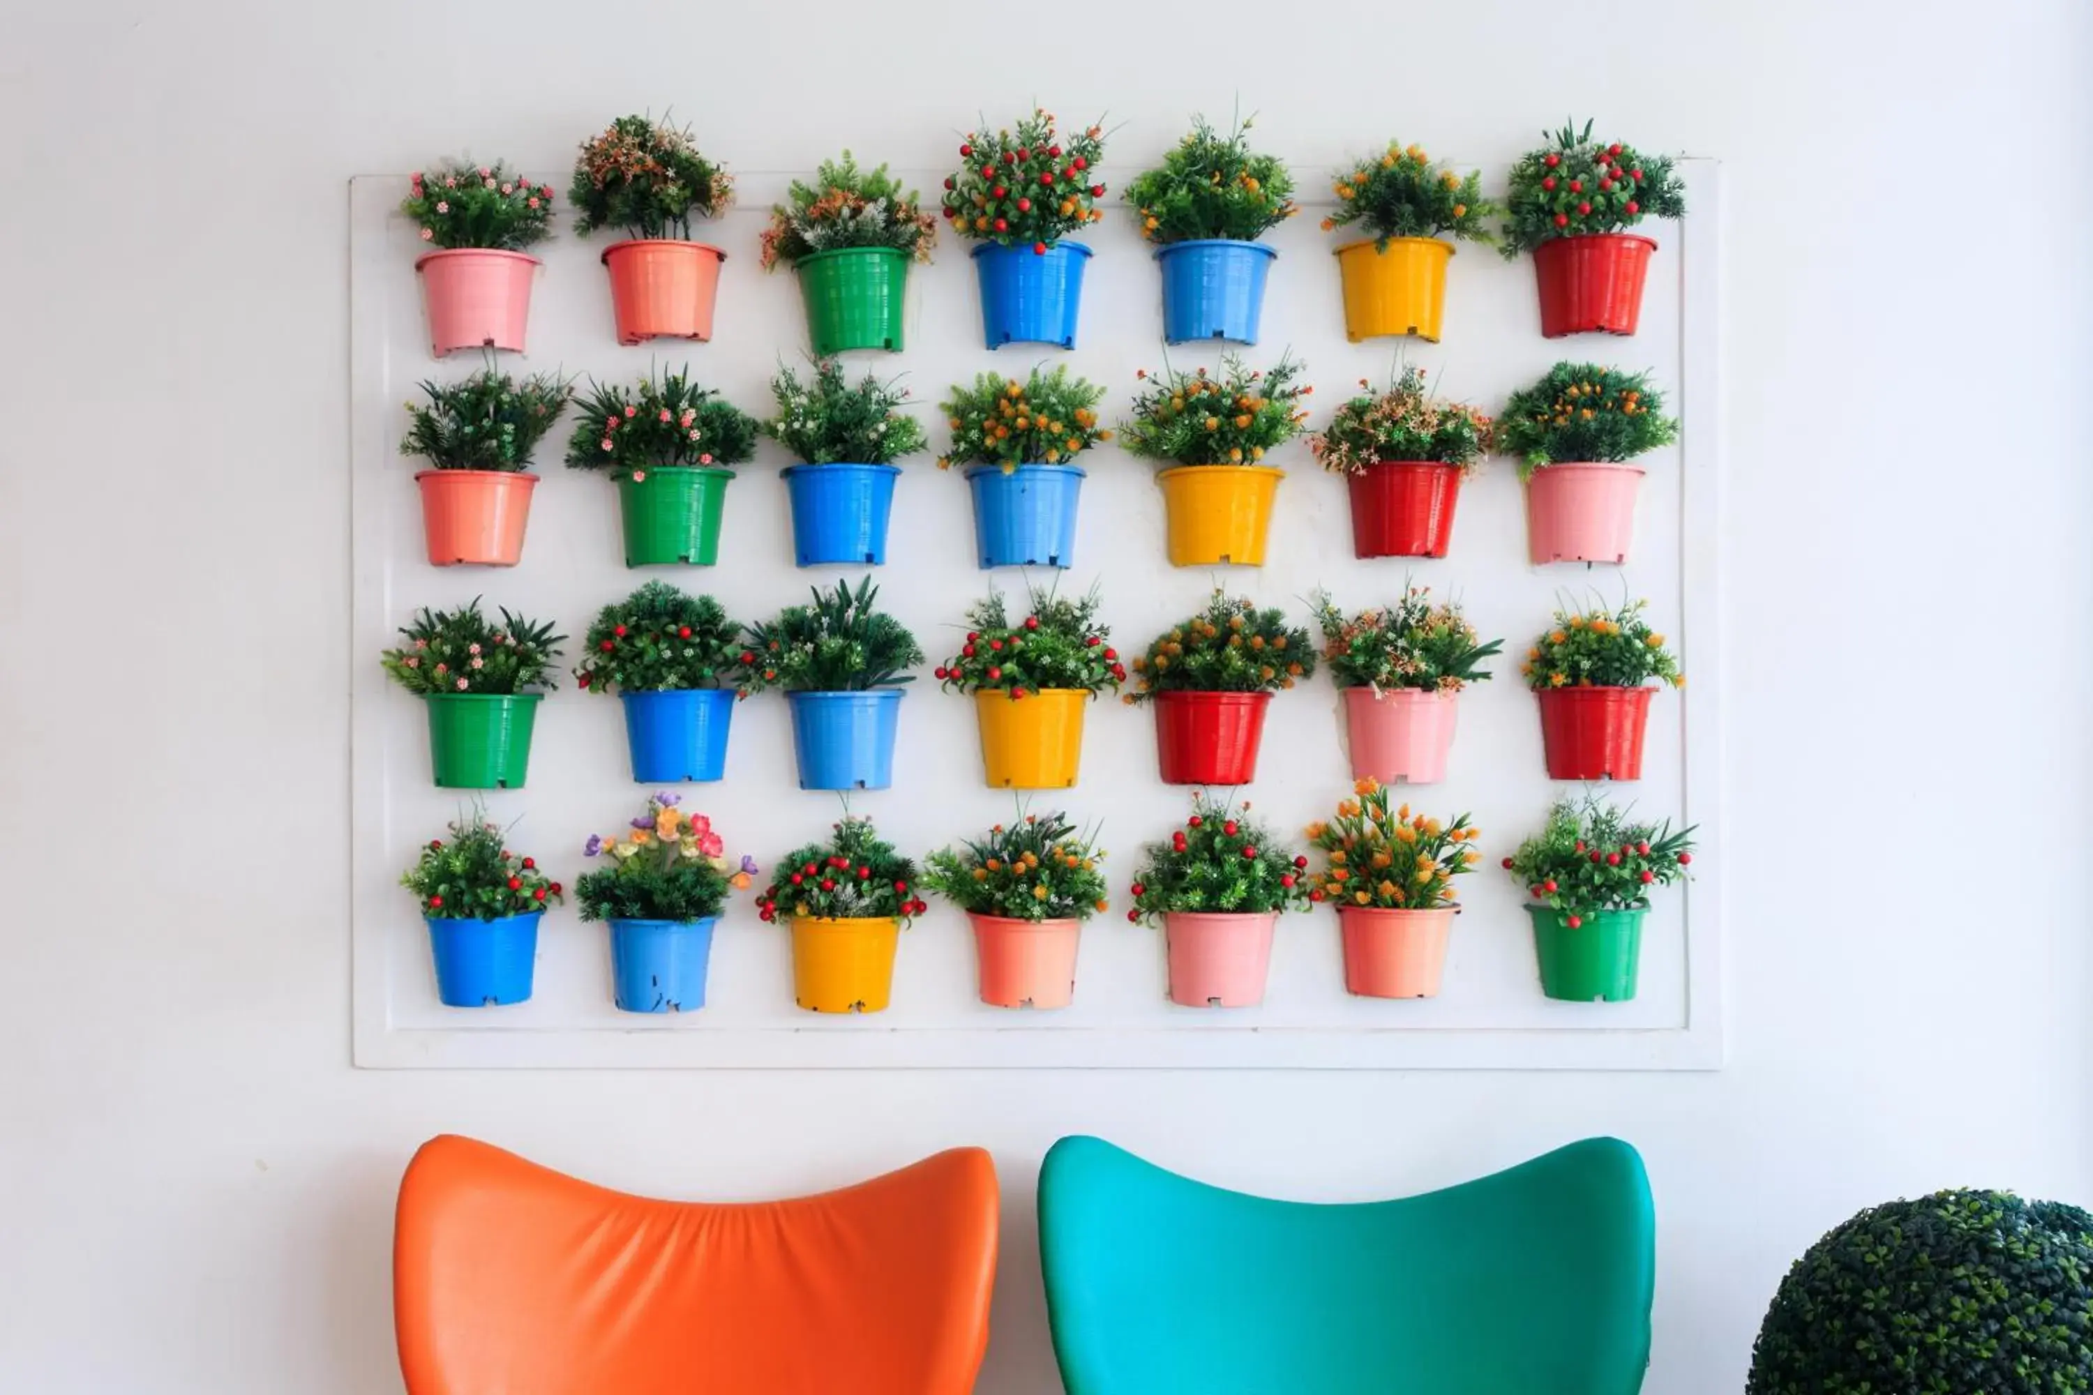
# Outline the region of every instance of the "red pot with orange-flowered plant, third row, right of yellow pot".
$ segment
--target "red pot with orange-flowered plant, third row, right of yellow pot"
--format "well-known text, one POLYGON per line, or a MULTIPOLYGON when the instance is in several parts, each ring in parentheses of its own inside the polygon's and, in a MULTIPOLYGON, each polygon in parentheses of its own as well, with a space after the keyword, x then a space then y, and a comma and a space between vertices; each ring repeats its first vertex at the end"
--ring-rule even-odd
POLYGON ((1273 692, 1314 673, 1308 632, 1277 611, 1214 592, 1206 609, 1134 659, 1136 692, 1155 703, 1164 784, 1250 784, 1273 692))

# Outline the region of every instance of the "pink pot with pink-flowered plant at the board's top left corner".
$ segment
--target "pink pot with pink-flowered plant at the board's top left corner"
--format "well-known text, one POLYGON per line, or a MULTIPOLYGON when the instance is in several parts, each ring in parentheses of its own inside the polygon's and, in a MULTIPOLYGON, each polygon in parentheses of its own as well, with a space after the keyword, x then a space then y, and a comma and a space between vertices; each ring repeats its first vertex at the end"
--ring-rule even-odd
POLYGON ((429 351, 523 351, 530 287, 542 266, 523 249, 553 234, 553 186, 502 161, 414 171, 400 211, 433 251, 414 259, 429 310, 429 351))

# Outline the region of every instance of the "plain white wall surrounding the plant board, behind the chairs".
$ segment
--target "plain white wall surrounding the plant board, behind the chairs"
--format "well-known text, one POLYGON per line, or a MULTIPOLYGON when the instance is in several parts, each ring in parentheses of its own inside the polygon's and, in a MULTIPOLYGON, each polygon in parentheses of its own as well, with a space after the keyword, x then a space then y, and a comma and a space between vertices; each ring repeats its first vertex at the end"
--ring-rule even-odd
POLYGON ((2093 1194, 2076 0, 303 8, 0 33, 6 1389, 396 1389, 391 1188, 440 1129, 710 1196, 988 1144, 998 1395, 1057 1389, 1030 1198, 1076 1129, 1316 1198, 1626 1136, 1658 1393, 1737 1389, 1785 1261, 1867 1200, 2093 1194), (350 1069, 343 180, 557 167, 670 102, 745 167, 933 163, 1034 92, 1126 117, 1122 174, 1235 92, 1302 161, 1507 159, 1568 111, 1727 161, 1725 1073, 350 1069))

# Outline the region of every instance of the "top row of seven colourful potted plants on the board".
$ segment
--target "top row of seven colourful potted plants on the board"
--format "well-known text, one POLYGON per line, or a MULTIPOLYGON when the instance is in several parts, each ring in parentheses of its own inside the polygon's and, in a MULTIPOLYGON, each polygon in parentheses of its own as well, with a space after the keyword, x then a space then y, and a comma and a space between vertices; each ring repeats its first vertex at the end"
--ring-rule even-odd
MULTIPOLYGON (((1072 234, 1103 220, 1101 125, 1061 134, 1046 111, 1015 128, 967 132, 961 167, 938 211, 975 243, 982 333, 1007 343, 1076 343, 1090 249, 1072 234)), ((1346 335, 1440 337, 1455 241, 1532 253, 1547 337, 1633 335, 1656 243, 1633 234, 1645 218, 1679 218, 1685 197, 1668 157, 1645 157, 1584 130, 1551 132, 1511 171, 1503 205, 1478 174, 1434 163, 1421 146, 1388 142, 1333 180, 1325 230, 1358 228, 1335 249, 1346 335), (1492 220, 1503 215, 1501 228, 1492 220)), ((733 178, 670 121, 620 117, 582 144, 567 195, 582 234, 617 228, 603 251, 620 343, 712 339, 726 253, 691 241, 695 220, 733 203, 733 178)), ((1300 211, 1293 180, 1250 148, 1250 121, 1193 130, 1126 190, 1136 226, 1157 245, 1164 337, 1170 343, 1256 343, 1266 272, 1277 257, 1258 238, 1300 211)), ((523 349, 536 257, 553 232, 553 186, 504 163, 446 163, 412 176, 402 211, 433 245, 417 268, 437 356, 463 347, 523 349)), ((858 167, 846 151, 814 182, 793 182, 762 234, 764 270, 800 274, 814 353, 902 347, 910 261, 927 261, 938 218, 885 165, 858 167)))

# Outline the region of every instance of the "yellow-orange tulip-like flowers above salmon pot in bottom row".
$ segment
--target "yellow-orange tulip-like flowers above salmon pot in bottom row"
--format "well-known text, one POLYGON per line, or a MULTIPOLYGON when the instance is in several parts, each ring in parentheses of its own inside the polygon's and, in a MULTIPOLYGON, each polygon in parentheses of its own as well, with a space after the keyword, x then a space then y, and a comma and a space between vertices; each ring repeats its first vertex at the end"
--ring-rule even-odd
POLYGON ((1455 904, 1453 878, 1482 862, 1482 830, 1467 814, 1442 824, 1411 805, 1388 807, 1379 780, 1360 780, 1329 822, 1308 824, 1323 870, 1308 874, 1308 899, 1369 910, 1436 910, 1455 904))

